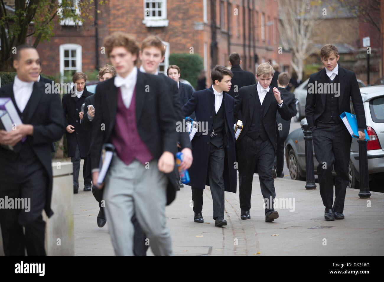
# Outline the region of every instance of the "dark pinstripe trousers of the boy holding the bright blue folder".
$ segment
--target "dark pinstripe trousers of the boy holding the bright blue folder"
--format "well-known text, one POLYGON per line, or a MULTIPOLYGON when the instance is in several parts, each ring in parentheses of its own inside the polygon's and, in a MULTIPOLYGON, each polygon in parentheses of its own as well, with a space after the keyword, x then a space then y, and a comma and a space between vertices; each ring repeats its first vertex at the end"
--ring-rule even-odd
POLYGON ((312 130, 313 148, 319 162, 320 195, 326 208, 343 213, 345 193, 348 186, 348 163, 352 137, 344 124, 316 126, 312 130), (333 167, 336 172, 335 200, 333 202, 333 167))

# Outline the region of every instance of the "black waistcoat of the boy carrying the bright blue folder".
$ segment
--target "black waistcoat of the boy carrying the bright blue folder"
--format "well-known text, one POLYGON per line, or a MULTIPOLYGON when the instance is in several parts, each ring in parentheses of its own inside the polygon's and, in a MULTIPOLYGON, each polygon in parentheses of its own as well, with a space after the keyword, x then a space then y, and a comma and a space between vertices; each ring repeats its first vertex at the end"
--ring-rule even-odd
MULTIPOLYGON (((326 83, 334 84, 333 90, 335 90, 336 85, 339 82, 339 76, 336 75, 333 81, 329 79, 329 77, 326 75, 326 83)), ((340 91, 339 86, 337 86, 338 91, 340 91)), ((325 92, 328 87, 324 86, 323 91, 325 92)), ((329 89, 332 89, 329 87, 329 89)), ((341 118, 339 117, 339 97, 335 97, 336 92, 333 91, 331 93, 326 92, 325 94, 325 106, 324 106, 324 112, 318 117, 318 121, 324 124, 338 124, 341 122, 341 118)))

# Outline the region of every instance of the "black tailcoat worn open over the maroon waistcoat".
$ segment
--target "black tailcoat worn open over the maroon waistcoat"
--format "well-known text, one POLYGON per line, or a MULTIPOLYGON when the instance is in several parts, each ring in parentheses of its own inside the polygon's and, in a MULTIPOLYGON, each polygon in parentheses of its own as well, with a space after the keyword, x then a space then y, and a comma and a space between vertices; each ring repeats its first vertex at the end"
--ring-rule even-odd
MULTIPOLYGON (((118 103, 118 88, 114 85, 114 80, 113 77, 96 86, 93 104, 95 117, 91 129, 92 169, 99 167, 101 147, 104 143, 111 142, 111 135, 114 130, 118 103)), ((137 131, 154 159, 157 160, 164 151, 173 154, 177 152, 176 116, 171 96, 166 89, 163 79, 159 76, 137 71, 137 131)), ((170 204, 176 196, 177 182, 173 171, 167 173, 167 177, 167 204, 170 204)))

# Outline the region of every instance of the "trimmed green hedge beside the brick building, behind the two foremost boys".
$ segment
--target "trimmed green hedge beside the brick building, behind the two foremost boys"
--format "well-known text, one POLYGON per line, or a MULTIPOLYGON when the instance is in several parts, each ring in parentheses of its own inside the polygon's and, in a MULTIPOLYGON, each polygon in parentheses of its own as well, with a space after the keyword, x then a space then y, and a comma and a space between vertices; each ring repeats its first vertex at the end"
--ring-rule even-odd
POLYGON ((185 79, 197 87, 197 77, 200 71, 204 69, 203 58, 198 54, 170 54, 169 65, 175 64, 180 68, 180 78, 185 79))

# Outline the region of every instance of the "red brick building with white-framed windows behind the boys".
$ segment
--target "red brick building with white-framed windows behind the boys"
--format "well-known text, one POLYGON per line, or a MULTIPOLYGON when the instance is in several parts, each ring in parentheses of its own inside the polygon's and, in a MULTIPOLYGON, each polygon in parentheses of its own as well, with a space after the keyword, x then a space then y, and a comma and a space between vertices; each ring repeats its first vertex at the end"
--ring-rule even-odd
POLYGON ((167 47, 160 71, 167 69, 170 53, 192 52, 203 58, 208 76, 216 63, 228 66, 232 52, 253 73, 265 61, 291 71, 290 53, 278 52, 277 0, 109 0, 97 9, 97 25, 94 19, 83 26, 57 24, 50 42, 38 45, 43 73, 91 73, 108 63, 102 43, 114 31, 137 41, 160 36, 167 47))

